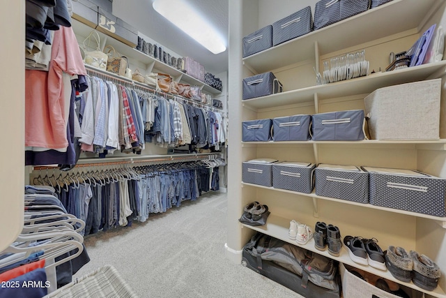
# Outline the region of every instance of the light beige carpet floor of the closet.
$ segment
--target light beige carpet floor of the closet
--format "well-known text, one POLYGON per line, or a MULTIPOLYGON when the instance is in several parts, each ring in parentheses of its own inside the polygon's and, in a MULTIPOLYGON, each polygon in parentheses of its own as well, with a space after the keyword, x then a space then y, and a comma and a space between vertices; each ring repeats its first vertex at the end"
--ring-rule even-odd
POLYGON ((226 193, 206 193, 145 223, 86 237, 91 261, 76 277, 113 265, 140 298, 302 297, 224 257, 226 193))

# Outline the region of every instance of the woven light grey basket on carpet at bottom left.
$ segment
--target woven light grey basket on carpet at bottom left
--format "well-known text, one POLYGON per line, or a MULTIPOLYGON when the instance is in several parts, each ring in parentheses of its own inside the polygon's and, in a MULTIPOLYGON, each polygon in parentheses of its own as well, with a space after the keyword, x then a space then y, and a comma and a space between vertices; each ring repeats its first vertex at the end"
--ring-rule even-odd
POLYGON ((44 298, 52 297, 138 298, 112 265, 105 265, 86 276, 76 278, 75 281, 64 285, 44 298))

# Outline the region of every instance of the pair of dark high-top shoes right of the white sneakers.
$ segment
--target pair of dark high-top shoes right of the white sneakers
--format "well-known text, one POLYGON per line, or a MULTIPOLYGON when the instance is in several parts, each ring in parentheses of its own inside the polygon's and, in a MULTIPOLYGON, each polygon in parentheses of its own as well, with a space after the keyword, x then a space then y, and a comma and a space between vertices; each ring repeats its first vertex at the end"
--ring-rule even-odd
POLYGON ((334 257, 339 257, 341 252, 341 231, 336 225, 327 225, 321 221, 316 223, 314 228, 314 247, 319 251, 325 251, 334 257))

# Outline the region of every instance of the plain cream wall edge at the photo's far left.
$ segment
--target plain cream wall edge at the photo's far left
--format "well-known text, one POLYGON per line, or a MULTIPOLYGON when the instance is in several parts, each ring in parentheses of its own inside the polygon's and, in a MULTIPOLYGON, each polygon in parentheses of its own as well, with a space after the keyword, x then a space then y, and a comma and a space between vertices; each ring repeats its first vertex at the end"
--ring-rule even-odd
POLYGON ((25 1, 6 0, 0 11, 0 251, 23 227, 25 1))

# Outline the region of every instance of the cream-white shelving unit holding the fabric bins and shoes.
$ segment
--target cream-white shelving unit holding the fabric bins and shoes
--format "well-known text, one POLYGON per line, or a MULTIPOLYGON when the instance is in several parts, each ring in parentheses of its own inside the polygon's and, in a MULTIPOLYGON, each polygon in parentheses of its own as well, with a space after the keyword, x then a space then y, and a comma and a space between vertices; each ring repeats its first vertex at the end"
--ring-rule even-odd
MULTIPOLYGON (((230 1, 230 34, 240 39, 240 48, 243 36, 309 5, 309 1, 305 5, 284 1, 275 3, 277 7, 282 7, 283 4, 282 10, 272 12, 272 4, 268 1, 237 2, 230 1)), ((316 2, 310 4, 313 11, 316 2)), ((342 237, 376 237, 383 250, 394 245, 428 255, 442 269, 443 276, 438 288, 434 291, 422 290, 413 283, 401 283, 389 271, 358 265, 349 258, 346 248, 342 248, 339 258, 329 255, 327 251, 316 250, 313 240, 304 248, 424 292, 426 297, 446 297, 443 290, 446 288, 446 260, 442 257, 446 254, 446 218, 321 197, 314 192, 297 193, 247 184, 241 179, 242 162, 253 158, 416 169, 437 177, 446 177, 446 135, 443 135, 441 129, 446 125, 443 119, 446 99, 443 96, 439 140, 242 142, 241 135, 242 121, 245 120, 337 110, 364 110, 364 97, 378 88, 443 78, 446 61, 377 72, 366 77, 323 85, 316 85, 313 68, 321 71, 320 66, 325 59, 365 49, 366 60, 373 66, 370 70, 377 70, 378 67, 385 69, 390 52, 408 50, 431 24, 440 23, 445 27, 445 9, 445 1, 393 0, 249 57, 241 57, 241 50, 229 52, 229 73, 238 75, 234 75, 232 80, 230 78, 229 82, 229 198, 232 200, 229 202, 229 234, 226 243, 228 258, 236 262, 241 260, 241 249, 254 231, 299 246, 288 238, 289 222, 294 219, 314 228, 317 221, 323 221, 337 225, 342 237), (285 91, 241 100, 243 78, 268 71, 275 73, 284 84, 285 91), (264 226, 253 227, 238 223, 243 207, 253 201, 269 207, 271 214, 264 226)), ((233 38, 233 43, 236 43, 236 38, 233 38)), ((445 92, 443 87, 443 94, 445 92)))

